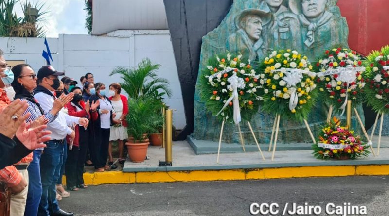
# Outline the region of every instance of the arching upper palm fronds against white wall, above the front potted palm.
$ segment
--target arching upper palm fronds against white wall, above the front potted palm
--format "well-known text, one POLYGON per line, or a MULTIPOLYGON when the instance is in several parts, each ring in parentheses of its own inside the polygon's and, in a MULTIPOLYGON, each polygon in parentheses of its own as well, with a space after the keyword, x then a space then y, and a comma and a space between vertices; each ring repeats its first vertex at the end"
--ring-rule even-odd
POLYGON ((123 82, 121 86, 132 99, 152 97, 161 100, 160 94, 172 95, 169 81, 158 77, 160 65, 152 64, 150 59, 143 59, 136 68, 117 67, 109 75, 120 74, 123 82))

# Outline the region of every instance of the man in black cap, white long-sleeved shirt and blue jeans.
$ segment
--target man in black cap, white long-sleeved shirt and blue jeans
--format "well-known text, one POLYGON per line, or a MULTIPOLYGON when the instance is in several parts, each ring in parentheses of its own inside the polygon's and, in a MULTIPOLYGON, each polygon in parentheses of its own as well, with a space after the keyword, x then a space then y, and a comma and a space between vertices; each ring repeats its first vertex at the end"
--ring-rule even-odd
MULTIPOLYGON (((42 109, 49 112, 56 99, 54 91, 59 87, 58 76, 64 75, 63 72, 56 71, 53 66, 43 66, 39 69, 37 78, 38 86, 34 91, 34 98, 38 100, 42 109)), ((73 94, 73 93, 70 93, 73 94)), ((74 94, 73 94, 74 95, 74 94)), ((60 96, 58 96, 61 99, 60 96)), ((59 208, 56 197, 56 182, 59 178, 60 168, 63 160, 63 145, 66 135, 72 139, 75 132, 68 125, 79 124, 88 126, 88 119, 69 116, 63 111, 58 113, 58 117, 47 124, 47 130, 52 132, 52 139, 46 143, 47 148, 43 150, 40 159, 42 197, 39 203, 38 216, 72 216, 59 208)))

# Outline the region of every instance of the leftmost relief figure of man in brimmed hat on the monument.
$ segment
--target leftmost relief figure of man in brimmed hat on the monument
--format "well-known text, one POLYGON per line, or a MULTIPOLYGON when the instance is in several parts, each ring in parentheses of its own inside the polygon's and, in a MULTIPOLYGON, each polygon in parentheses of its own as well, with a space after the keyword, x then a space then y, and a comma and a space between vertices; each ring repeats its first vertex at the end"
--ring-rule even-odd
POLYGON ((263 28, 270 22, 270 13, 257 9, 246 9, 235 17, 238 31, 231 34, 226 42, 231 53, 241 53, 251 61, 262 58, 268 49, 263 38, 263 28))

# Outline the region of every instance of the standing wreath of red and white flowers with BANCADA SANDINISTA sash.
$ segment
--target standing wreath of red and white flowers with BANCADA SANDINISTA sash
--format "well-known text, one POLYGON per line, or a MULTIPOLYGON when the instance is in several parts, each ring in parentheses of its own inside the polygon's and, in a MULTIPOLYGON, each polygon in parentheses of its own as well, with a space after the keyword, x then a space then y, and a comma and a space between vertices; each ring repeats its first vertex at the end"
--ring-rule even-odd
MULTIPOLYGON (((325 72, 340 68, 361 68, 362 61, 359 55, 353 50, 346 48, 334 48, 326 50, 323 57, 316 63, 318 71, 325 72)), ((355 101, 353 106, 363 101, 363 88, 365 80, 362 77, 363 71, 351 69, 340 73, 320 76, 316 78, 318 88, 323 95, 323 100, 328 105, 341 108, 346 100, 355 101)))

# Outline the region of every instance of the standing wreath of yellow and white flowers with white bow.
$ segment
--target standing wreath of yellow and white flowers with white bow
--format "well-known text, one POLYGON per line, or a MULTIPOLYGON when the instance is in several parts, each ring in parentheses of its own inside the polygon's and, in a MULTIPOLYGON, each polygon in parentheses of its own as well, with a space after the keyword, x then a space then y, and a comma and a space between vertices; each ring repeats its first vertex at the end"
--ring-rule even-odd
POLYGON ((273 51, 259 66, 263 86, 261 107, 267 113, 302 121, 316 102, 315 73, 307 56, 297 51, 273 51))

